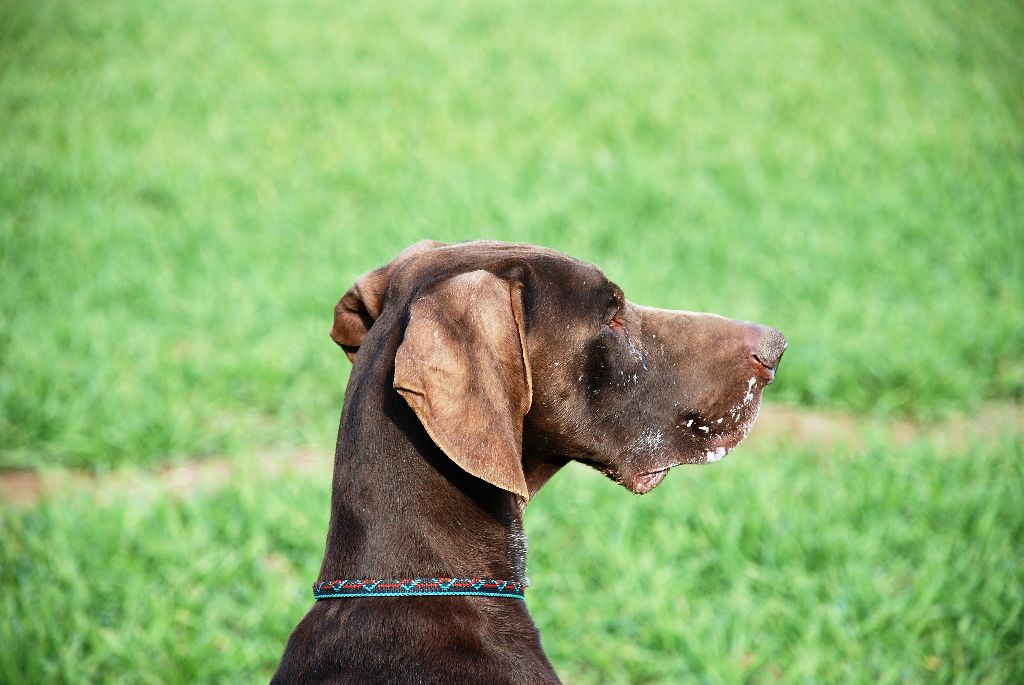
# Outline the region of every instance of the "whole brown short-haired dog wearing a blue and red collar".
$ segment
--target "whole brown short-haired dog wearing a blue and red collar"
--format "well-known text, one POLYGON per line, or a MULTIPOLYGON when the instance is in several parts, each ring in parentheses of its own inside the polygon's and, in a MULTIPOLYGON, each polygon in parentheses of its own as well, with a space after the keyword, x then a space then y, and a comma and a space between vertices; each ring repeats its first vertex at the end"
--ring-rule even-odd
POLYGON ((492 242, 414 245, 355 283, 331 336, 354 367, 316 586, 329 598, 275 683, 557 683, 514 592, 529 498, 570 460, 637 494, 718 461, 786 345, 492 242))

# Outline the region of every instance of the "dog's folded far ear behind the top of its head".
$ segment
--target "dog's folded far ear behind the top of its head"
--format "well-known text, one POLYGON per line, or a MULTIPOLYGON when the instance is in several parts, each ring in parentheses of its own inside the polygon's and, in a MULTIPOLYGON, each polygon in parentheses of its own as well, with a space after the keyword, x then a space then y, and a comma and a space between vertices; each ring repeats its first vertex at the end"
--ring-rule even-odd
POLYGON ((360 275, 355 285, 338 300, 338 304, 334 305, 331 338, 345 350, 349 361, 355 361, 355 353, 359 351, 359 345, 362 344, 367 331, 384 310, 387 287, 395 268, 410 257, 444 245, 445 243, 437 241, 420 241, 411 245, 386 266, 360 275))

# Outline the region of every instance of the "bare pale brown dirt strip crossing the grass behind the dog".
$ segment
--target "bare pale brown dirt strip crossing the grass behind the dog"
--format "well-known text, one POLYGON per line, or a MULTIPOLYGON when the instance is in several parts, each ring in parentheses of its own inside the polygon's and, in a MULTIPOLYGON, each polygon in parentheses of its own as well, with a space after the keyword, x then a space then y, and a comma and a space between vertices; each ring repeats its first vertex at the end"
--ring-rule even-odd
MULTIPOLYGON (((744 443, 748 453, 784 445, 821 451, 866 448, 885 440, 894 447, 927 440, 943 454, 967 454, 980 442, 1024 437, 1024 406, 989 404, 972 415, 953 415, 921 423, 842 412, 822 412, 769 404, 762 409, 744 443)), ((78 469, 0 471, 0 506, 31 507, 71 490, 91 491, 98 501, 120 497, 170 494, 187 497, 227 484, 242 470, 263 475, 303 474, 331 477, 333 449, 306 446, 262 452, 245 458, 210 457, 169 462, 154 468, 122 468, 103 473, 78 469)))

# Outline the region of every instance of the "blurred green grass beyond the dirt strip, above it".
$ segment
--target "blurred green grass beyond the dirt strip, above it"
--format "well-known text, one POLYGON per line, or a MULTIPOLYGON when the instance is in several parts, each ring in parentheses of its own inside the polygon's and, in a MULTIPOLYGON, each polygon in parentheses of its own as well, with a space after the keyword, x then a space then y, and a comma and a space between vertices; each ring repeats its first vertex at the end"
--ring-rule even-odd
POLYGON ((331 307, 423 237, 777 326, 788 402, 1020 398, 1021 43, 1014 2, 12 0, 0 465, 329 441, 331 307))

